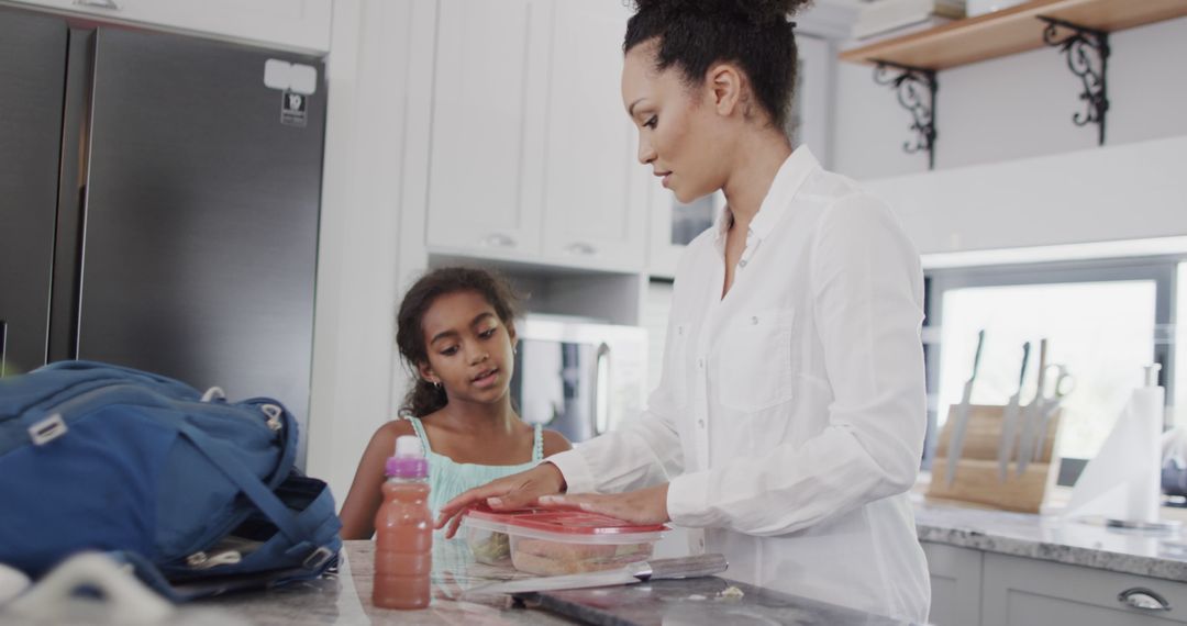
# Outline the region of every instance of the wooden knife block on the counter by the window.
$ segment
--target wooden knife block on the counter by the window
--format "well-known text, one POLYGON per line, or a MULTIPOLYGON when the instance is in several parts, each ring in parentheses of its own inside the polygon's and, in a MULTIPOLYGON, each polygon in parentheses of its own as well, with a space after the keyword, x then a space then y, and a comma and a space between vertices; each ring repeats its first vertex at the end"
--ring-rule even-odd
POLYGON ((1047 436, 1043 440, 1042 454, 1030 461, 1022 475, 1017 475, 1017 440, 1022 436, 1022 415, 1026 409, 1026 407, 1018 408, 1018 417, 1014 429, 1015 456, 1011 458, 1005 483, 1002 483, 998 478, 997 447, 1002 440, 1002 417, 1005 407, 996 404, 972 404, 969 407, 964 449, 957 461, 957 474, 950 486, 945 480, 948 466, 948 441, 952 439, 958 410, 957 405, 951 407, 948 421, 940 430, 935 458, 932 460, 932 485, 927 490, 927 497, 964 500, 1008 511, 1037 513, 1054 465, 1052 460, 1061 410, 1056 408, 1047 419, 1047 436))

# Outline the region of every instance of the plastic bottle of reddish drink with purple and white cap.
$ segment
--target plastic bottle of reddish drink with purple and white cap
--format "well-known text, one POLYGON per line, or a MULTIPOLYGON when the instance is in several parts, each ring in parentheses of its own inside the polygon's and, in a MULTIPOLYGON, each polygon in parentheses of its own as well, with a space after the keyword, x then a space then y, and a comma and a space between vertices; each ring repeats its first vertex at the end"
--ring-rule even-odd
POLYGON ((395 440, 387 460, 383 504, 375 515, 375 580, 372 601, 382 608, 425 608, 432 598, 432 512, 429 462, 420 440, 395 440))

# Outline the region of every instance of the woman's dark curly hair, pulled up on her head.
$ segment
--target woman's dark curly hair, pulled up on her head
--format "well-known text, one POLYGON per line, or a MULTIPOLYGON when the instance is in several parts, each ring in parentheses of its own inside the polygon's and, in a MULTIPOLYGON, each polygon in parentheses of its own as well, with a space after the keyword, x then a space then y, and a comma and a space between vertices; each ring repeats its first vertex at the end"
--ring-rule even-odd
POLYGON ((658 70, 675 66, 697 87, 713 63, 737 63, 770 122, 782 128, 795 85, 791 15, 812 0, 634 0, 623 52, 659 39, 658 70))

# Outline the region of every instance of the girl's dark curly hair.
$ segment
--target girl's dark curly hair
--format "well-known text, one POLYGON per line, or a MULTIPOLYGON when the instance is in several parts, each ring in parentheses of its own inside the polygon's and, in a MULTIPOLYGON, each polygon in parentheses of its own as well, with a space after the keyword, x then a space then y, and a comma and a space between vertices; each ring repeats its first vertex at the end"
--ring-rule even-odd
POLYGON ((395 345, 414 381, 412 389, 404 396, 400 415, 424 417, 449 403, 445 390, 421 378, 417 366, 429 362, 429 346, 425 345, 421 327, 425 313, 438 298, 458 292, 477 293, 495 309, 503 326, 514 327, 519 315, 519 298, 499 274, 480 268, 444 267, 417 280, 404 295, 396 313, 395 345))

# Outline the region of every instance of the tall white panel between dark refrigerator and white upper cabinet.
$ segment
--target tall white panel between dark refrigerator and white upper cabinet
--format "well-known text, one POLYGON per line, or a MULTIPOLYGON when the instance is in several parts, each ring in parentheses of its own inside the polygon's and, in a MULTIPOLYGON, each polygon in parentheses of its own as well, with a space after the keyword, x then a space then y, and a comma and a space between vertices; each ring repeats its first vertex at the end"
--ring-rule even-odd
POLYGON ((401 392, 395 305, 401 277, 426 258, 424 224, 401 223, 402 204, 423 196, 427 178, 425 159, 410 154, 410 139, 427 133, 415 116, 427 110, 424 64, 432 63, 425 28, 414 25, 431 25, 433 14, 419 0, 334 2, 306 470, 339 505, 401 392))

